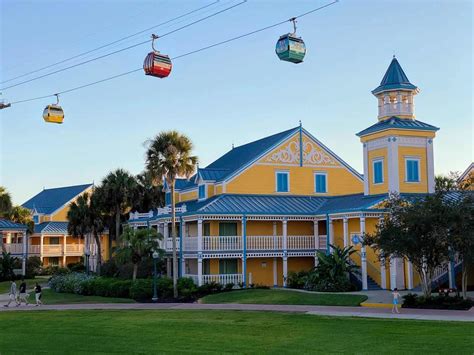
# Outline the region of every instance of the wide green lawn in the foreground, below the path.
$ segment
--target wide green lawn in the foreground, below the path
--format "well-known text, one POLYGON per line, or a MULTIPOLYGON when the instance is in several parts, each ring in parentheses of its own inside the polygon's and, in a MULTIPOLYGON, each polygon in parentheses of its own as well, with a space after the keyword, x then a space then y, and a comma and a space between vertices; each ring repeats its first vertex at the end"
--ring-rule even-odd
POLYGON ((240 311, 3 312, 0 334, 2 354, 472 354, 474 349, 474 323, 240 311), (15 324, 28 329, 27 336, 15 324))

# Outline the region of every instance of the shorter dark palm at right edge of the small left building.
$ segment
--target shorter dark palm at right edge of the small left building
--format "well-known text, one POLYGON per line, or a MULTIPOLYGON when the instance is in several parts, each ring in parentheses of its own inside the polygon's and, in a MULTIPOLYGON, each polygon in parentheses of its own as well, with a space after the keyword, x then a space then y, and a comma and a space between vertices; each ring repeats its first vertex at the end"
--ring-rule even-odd
POLYGON ((67 213, 68 232, 72 236, 85 238, 93 236, 97 245, 97 273, 100 275, 102 265, 102 243, 101 233, 104 231, 104 217, 98 196, 88 193, 79 196, 76 201, 69 205, 67 213))

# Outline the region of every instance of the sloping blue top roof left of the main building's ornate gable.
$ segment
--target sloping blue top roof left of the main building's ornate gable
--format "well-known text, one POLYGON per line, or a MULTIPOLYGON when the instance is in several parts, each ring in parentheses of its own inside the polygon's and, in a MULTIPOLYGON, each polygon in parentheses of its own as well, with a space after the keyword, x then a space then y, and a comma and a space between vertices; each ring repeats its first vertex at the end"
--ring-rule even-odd
POLYGON ((240 147, 235 147, 213 163, 209 164, 206 169, 221 170, 218 180, 223 180, 235 173, 237 170, 246 166, 252 160, 258 158, 266 150, 298 132, 299 129, 300 127, 298 126, 287 131, 256 140, 254 142, 241 145, 240 147))

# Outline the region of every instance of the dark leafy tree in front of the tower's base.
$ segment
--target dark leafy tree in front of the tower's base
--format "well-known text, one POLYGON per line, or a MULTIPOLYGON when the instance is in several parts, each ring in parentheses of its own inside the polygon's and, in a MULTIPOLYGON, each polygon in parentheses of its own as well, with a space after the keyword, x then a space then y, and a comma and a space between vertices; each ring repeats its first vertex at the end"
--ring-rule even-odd
POLYGON ((431 296, 435 269, 449 260, 449 207, 440 194, 406 201, 392 195, 386 202, 389 212, 364 244, 384 255, 406 258, 418 272, 426 297, 431 296))

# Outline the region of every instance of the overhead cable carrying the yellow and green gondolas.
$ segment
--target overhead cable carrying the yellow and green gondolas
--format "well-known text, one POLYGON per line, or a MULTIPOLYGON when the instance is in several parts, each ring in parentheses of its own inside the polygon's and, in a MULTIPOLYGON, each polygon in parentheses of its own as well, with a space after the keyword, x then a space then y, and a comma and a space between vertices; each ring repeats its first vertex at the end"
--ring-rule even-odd
MULTIPOLYGON (((269 26, 266 26, 266 27, 262 27, 260 29, 257 29, 257 30, 254 30, 254 31, 251 31, 251 32, 247 32, 245 34, 242 34, 242 35, 239 35, 239 36, 236 36, 236 37, 233 37, 233 38, 229 38, 227 40, 224 40, 224 41, 220 41, 220 42, 217 42, 217 43, 214 43, 214 44, 211 44, 211 45, 208 45, 208 46, 205 46, 205 47, 202 47, 202 48, 199 48, 199 49, 196 49, 196 50, 193 50, 193 51, 190 51, 190 52, 187 52, 187 53, 184 53, 184 54, 180 54, 176 57, 173 57, 171 58, 172 60, 176 60, 176 59, 180 59, 180 58, 184 58, 184 57, 187 57, 189 55, 192 55, 192 54, 195 54, 195 53, 199 53, 199 52, 202 52, 202 51, 205 51, 205 50, 208 50, 208 49, 211 49, 211 48, 214 48, 214 47, 217 47, 217 46, 220 46, 220 45, 223 45, 223 44, 226 44, 226 43, 229 43, 229 42, 233 42, 233 41, 236 41, 236 40, 239 40, 241 38, 245 38, 245 37, 248 37, 248 36, 251 36, 253 34, 256 34, 256 33, 259 33, 259 32, 262 32, 262 31, 265 31, 265 30, 268 30, 268 29, 271 29, 271 28, 274 28, 274 27, 277 27, 277 26, 280 26, 282 24, 285 24, 287 22, 290 22, 290 21, 293 21, 293 19, 298 19, 298 18, 301 18, 301 17, 304 17, 304 16, 307 16, 309 14, 312 14, 316 11, 319 11, 319 10, 322 10, 326 7, 329 7, 331 5, 334 5, 335 3, 339 2, 339 0, 334 0, 328 4, 325 4, 323 6, 320 6, 318 8, 315 8, 313 10, 310 10, 310 11, 307 11, 305 13, 302 13, 298 16, 295 16, 295 17, 292 17, 288 20, 284 20, 284 21, 281 21, 281 22, 278 22, 278 23, 275 23, 275 24, 272 24, 272 25, 269 25, 269 26)), ((126 76, 126 75, 129 75, 129 74, 133 74, 133 73, 136 73, 138 71, 141 71, 143 70, 142 67, 140 68, 137 68, 137 69, 133 69, 133 70, 130 70, 130 71, 127 71, 125 73, 121 73, 121 74, 117 74, 117 75, 114 75, 114 76, 110 76, 110 77, 107 77, 107 78, 104 78, 104 79, 101 79, 101 80, 97 80, 97 81, 94 81, 94 82, 91 82, 91 83, 88 83, 88 84, 84 84, 84 85, 81 85, 81 86, 77 86, 77 87, 74 87, 74 88, 71 88, 71 89, 67 89, 67 90, 63 90, 61 92, 58 92, 57 94, 59 95, 62 95, 62 94, 66 94, 66 93, 70 93, 70 92, 73 92, 73 91, 76 91, 76 90, 80 90, 80 89, 83 89, 83 88, 86 88, 86 87, 89 87, 89 86, 93 86, 93 85, 96 85, 96 84, 100 84, 100 83, 103 83, 103 82, 106 82, 106 81, 110 81, 110 80, 113 80, 113 79, 117 79, 117 78, 120 78, 122 76, 126 76)), ((49 97, 52 97, 52 96, 55 96, 56 94, 50 94, 50 95, 44 95, 44 96, 39 96, 39 97, 34 97, 34 98, 30 98, 30 99, 24 99, 24 100, 18 100, 18 101, 13 101, 11 102, 10 104, 11 105, 14 105, 14 104, 19 104, 19 103, 24 103, 24 102, 29 102, 29 101, 35 101, 35 100, 41 100, 41 99, 45 99, 45 98, 49 98, 49 97)))

